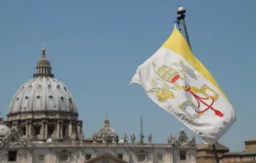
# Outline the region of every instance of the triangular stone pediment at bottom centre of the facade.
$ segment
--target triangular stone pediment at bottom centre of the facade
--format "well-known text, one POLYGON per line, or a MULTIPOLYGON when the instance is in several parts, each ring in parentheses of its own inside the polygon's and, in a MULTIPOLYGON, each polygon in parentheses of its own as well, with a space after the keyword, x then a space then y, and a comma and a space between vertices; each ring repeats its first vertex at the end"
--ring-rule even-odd
POLYGON ((103 153, 100 156, 94 157, 88 161, 86 161, 86 163, 128 163, 126 161, 121 160, 120 158, 111 155, 110 153, 106 152, 103 153))

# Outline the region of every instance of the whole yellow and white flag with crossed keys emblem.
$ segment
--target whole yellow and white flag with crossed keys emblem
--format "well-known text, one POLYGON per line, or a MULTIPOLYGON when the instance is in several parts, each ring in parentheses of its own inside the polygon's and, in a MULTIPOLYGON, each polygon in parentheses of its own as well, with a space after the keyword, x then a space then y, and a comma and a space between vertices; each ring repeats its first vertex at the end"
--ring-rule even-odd
POLYGON ((225 93, 193 56, 176 28, 162 47, 140 65, 130 85, 134 82, 205 143, 215 143, 236 121, 225 93))

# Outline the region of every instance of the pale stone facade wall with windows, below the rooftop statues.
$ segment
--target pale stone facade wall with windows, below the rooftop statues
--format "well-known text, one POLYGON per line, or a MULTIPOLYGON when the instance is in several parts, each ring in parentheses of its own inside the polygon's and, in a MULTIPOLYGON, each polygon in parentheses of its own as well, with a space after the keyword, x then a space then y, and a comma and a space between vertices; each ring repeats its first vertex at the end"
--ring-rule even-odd
POLYGON ((0 147, 0 163, 102 162, 99 156, 114 156, 111 162, 189 162, 196 163, 196 148, 171 143, 102 143, 102 142, 30 142, 13 139, 0 147), (13 142, 12 142, 13 141, 13 142), (19 142, 18 142, 19 141, 19 142))

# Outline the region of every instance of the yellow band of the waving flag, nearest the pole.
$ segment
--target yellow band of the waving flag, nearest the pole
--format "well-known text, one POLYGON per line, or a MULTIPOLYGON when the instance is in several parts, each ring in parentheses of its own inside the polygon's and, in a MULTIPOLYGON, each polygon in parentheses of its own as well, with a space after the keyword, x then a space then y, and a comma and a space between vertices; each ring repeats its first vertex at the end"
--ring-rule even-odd
MULTIPOLYGON (((225 96, 225 93, 221 90, 220 86, 216 80, 211 76, 211 73, 207 68, 192 54, 191 49, 189 48, 187 41, 184 39, 183 35, 174 28, 172 35, 165 41, 161 48, 170 49, 173 52, 183 56, 190 63, 197 72, 201 73, 208 81, 210 81, 216 88, 225 96)), ((160 49, 161 49, 160 48, 160 49)), ((227 99, 227 97, 225 96, 227 99)), ((228 99, 227 99, 228 100, 228 99)))

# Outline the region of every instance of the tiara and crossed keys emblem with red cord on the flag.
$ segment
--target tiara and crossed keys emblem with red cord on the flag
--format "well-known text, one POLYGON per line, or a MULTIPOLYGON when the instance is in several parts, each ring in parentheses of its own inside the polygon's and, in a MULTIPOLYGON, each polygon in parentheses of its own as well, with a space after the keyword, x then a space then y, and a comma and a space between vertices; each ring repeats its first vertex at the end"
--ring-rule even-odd
POLYGON ((159 66, 155 63, 152 63, 152 65, 159 78, 151 81, 152 89, 147 93, 156 93, 159 102, 175 99, 176 91, 184 91, 183 95, 187 100, 178 105, 178 108, 182 109, 192 121, 199 119, 208 109, 213 110, 217 116, 223 117, 220 110, 213 108, 216 100, 219 100, 219 95, 206 84, 203 84, 200 88, 191 86, 191 81, 197 80, 197 76, 192 68, 184 65, 183 60, 180 60, 179 63, 171 63, 169 67, 166 65, 159 66), (211 95, 206 91, 211 91, 211 95), (189 112, 188 108, 192 108, 194 112, 189 112))

